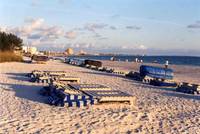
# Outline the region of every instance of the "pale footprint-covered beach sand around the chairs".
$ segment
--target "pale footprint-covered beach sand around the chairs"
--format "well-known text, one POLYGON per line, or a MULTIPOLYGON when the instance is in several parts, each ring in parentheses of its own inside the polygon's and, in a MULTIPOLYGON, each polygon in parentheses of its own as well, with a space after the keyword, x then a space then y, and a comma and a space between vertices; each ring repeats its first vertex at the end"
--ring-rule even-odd
MULTIPOLYGON (((106 66, 137 70, 139 64, 103 61, 106 66)), ((172 66, 176 80, 200 82, 200 67, 172 66)), ((200 133, 200 96, 144 85, 122 76, 75 67, 59 61, 45 65, 0 63, 0 133, 200 133), (53 107, 38 94, 42 84, 26 73, 62 70, 82 83, 105 84, 137 97, 137 108, 101 104, 83 108, 53 107)))

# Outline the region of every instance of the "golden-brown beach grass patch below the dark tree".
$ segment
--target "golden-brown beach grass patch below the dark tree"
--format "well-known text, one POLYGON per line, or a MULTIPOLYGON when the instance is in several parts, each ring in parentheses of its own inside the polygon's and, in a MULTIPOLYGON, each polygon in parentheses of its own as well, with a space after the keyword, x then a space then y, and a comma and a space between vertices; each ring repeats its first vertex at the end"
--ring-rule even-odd
POLYGON ((22 56, 15 54, 14 52, 11 51, 6 51, 6 52, 2 52, 0 51, 0 63, 1 62, 21 62, 22 56))

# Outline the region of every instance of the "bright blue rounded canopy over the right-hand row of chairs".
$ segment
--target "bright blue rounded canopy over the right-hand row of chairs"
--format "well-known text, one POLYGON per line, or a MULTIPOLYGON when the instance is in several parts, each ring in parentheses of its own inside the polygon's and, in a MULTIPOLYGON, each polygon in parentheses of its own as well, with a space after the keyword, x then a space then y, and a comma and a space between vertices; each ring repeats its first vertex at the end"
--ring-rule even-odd
POLYGON ((174 73, 172 69, 142 65, 140 66, 140 75, 157 79, 173 79, 174 73))

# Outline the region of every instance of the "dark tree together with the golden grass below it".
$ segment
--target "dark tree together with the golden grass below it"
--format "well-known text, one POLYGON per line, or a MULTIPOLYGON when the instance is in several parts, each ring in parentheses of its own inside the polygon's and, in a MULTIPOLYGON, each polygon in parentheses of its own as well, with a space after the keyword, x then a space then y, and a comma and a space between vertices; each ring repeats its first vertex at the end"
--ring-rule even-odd
POLYGON ((23 40, 11 33, 0 32, 0 62, 22 61, 22 56, 14 53, 20 50, 23 40))

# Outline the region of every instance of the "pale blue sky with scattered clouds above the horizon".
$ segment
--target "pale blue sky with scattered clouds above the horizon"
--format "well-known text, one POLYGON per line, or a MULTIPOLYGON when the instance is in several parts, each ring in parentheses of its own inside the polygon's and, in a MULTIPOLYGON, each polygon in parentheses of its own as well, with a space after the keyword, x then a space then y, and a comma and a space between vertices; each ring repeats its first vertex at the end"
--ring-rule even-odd
POLYGON ((40 50, 200 56, 200 0, 0 0, 0 30, 40 50))

